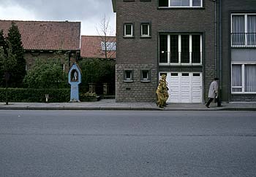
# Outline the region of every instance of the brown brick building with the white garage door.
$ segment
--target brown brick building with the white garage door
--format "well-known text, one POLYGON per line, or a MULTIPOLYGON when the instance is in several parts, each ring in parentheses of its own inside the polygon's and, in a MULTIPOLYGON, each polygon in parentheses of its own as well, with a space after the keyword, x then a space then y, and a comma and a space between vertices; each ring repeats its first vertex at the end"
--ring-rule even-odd
POLYGON ((217 75, 215 2, 113 0, 116 101, 155 101, 167 74, 170 103, 203 103, 217 75))

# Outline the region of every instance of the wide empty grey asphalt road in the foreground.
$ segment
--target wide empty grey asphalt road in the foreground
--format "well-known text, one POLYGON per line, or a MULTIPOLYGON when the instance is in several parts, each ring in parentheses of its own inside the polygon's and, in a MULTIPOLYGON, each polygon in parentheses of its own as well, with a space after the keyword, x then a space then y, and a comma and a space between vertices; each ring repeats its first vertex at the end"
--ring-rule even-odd
POLYGON ((0 111, 0 176, 255 176, 256 111, 0 111))

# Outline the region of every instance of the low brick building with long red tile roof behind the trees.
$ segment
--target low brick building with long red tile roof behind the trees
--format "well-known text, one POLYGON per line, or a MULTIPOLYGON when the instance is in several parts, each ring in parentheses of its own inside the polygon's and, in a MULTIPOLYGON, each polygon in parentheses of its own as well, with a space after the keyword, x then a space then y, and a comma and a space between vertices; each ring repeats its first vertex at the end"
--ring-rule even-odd
POLYGON ((61 58, 65 71, 80 57, 80 22, 0 20, 7 36, 11 23, 20 31, 27 69, 36 59, 61 58))

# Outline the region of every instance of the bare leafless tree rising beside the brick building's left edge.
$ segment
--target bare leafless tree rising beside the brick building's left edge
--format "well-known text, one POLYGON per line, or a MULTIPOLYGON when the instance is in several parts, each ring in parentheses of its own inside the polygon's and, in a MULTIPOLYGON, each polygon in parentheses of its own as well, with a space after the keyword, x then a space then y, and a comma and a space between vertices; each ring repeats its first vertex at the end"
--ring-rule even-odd
POLYGON ((105 15, 96 29, 101 38, 101 52, 104 52, 105 59, 113 58, 116 53, 116 37, 113 36, 113 29, 105 15))

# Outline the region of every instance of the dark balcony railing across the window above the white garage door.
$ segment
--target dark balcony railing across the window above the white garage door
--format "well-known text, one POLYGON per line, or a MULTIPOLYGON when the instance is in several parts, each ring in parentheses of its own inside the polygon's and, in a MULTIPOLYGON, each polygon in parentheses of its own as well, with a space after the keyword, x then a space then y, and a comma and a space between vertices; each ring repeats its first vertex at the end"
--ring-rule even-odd
POLYGON ((159 63, 167 64, 201 64, 202 52, 167 52, 161 51, 159 53, 159 63))

